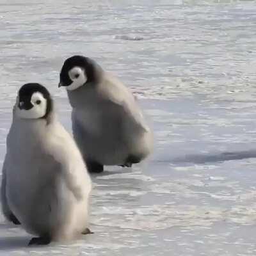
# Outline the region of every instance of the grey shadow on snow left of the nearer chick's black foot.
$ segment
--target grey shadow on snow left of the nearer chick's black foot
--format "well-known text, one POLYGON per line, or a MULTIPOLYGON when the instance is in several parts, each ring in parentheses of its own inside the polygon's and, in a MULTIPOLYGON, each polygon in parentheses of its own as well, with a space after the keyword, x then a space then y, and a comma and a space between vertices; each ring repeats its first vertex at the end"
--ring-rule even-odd
MULTIPOLYGON (((12 228, 10 224, 1 223, 0 233, 4 234, 7 229, 12 228)), ((15 226, 13 227, 15 228, 15 226)), ((28 248, 29 237, 28 236, 6 236, 0 237, 0 251, 26 249, 28 248)))

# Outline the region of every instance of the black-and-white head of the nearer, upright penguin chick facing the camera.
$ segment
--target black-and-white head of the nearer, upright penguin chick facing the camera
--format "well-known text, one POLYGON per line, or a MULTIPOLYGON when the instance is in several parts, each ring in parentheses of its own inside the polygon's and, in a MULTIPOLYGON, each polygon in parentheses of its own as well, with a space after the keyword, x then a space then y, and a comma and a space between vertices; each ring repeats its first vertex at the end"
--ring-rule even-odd
POLYGON ((38 83, 28 83, 20 88, 15 110, 19 118, 47 118, 51 111, 51 95, 44 86, 38 83))

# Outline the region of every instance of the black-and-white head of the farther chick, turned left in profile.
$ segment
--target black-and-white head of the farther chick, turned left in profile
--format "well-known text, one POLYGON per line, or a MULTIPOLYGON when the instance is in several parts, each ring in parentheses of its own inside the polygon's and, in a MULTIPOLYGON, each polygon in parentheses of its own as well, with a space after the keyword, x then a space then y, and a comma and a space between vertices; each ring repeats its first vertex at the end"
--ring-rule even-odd
POLYGON ((65 60, 60 72, 60 86, 68 91, 97 80, 100 67, 90 58, 75 55, 65 60))

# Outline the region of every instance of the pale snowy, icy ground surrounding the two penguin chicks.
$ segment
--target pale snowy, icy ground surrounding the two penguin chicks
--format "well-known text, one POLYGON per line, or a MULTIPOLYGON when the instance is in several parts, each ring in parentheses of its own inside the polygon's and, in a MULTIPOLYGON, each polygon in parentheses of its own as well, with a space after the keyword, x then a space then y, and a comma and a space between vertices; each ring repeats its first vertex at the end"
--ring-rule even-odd
POLYGON ((72 54, 132 88, 154 155, 93 176, 95 234, 27 248, 1 216, 0 255, 256 255, 255 2, 73 2, 0 0, 0 165, 26 82, 49 88, 70 131, 57 84, 72 54))

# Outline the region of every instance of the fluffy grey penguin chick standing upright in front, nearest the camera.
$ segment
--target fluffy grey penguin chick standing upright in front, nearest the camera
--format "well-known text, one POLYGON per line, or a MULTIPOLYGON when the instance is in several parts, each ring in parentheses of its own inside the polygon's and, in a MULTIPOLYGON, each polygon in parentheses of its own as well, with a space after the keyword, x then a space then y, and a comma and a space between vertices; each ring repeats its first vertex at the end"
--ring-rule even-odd
POLYGON ((75 141, 54 115, 50 93, 40 84, 24 84, 7 137, 4 216, 36 236, 29 244, 68 241, 88 232, 91 188, 75 141))

